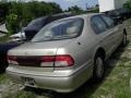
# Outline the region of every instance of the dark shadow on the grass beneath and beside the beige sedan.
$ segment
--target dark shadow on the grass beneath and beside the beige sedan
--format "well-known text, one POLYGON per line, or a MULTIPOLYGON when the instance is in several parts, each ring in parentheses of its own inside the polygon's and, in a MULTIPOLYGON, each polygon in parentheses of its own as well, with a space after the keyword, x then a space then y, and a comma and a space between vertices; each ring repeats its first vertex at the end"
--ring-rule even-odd
POLYGON ((32 88, 32 87, 25 87, 24 90, 35 93, 38 96, 46 96, 47 98, 91 98, 92 95, 97 90, 97 88, 100 87, 100 85, 106 81, 108 75, 117 65, 124 50, 126 48, 120 46, 108 59, 108 61, 105 62, 105 65, 106 65, 105 78, 103 79, 103 82, 98 84, 93 84, 92 81, 87 81, 84 85, 82 85, 75 91, 69 93, 69 94, 60 94, 51 90, 32 88))

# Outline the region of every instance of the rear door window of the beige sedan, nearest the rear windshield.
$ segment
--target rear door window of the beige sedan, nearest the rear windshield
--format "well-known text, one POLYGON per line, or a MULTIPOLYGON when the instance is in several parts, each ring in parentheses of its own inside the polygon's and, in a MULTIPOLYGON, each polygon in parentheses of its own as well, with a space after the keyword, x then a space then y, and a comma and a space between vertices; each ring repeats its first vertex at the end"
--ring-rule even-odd
POLYGON ((102 20, 100 16, 93 16, 91 19, 91 24, 92 24, 93 29, 97 34, 103 33, 107 29, 107 26, 106 26, 105 22, 102 20))

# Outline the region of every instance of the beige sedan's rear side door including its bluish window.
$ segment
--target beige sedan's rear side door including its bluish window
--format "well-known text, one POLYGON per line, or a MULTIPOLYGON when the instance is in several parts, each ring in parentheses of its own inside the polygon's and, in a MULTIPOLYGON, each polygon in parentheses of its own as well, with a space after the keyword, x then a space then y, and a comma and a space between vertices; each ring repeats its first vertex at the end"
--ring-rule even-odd
POLYGON ((109 56, 115 49, 115 34, 112 29, 108 28, 108 25, 100 15, 95 15, 92 17, 92 27, 97 35, 97 44, 104 47, 107 56, 109 56))

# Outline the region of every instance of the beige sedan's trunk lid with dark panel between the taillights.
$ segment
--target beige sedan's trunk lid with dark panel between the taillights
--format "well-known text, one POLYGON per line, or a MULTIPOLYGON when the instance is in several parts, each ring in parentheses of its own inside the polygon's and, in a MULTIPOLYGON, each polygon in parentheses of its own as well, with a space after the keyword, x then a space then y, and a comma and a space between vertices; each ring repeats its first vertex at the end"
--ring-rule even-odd
MULTIPOLYGON (((67 39, 67 40, 24 44, 9 51, 8 53, 9 58, 12 58, 12 56, 15 57, 14 60, 15 62, 10 62, 10 63, 17 64, 20 66, 40 68, 41 58, 44 56, 48 56, 48 57, 56 56, 59 47, 67 46, 71 41, 73 40, 67 39)), ((47 65, 45 65, 45 69, 46 68, 50 68, 50 70, 53 70, 53 63, 52 62, 47 63, 47 65)))

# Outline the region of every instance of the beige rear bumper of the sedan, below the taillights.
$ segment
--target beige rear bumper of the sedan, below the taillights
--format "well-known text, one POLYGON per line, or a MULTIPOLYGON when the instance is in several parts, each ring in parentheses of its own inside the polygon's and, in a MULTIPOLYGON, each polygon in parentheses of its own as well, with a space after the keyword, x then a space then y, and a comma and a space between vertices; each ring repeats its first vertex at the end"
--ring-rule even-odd
POLYGON ((41 76, 41 75, 32 75, 28 73, 22 74, 10 70, 10 66, 7 69, 8 75, 12 81, 21 83, 25 86, 38 87, 55 90, 58 93, 71 93, 85 83, 92 75, 92 66, 78 71, 76 73, 69 76, 41 76), (25 84, 22 79, 23 77, 29 77, 34 79, 34 85, 25 84))

